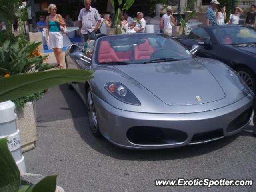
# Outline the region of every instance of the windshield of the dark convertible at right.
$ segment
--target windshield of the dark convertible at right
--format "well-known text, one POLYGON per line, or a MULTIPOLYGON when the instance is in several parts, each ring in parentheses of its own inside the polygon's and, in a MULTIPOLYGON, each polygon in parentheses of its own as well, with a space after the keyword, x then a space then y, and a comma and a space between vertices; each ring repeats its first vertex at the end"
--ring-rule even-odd
POLYGON ((215 28, 212 32, 220 44, 245 44, 256 42, 256 31, 243 26, 215 28))

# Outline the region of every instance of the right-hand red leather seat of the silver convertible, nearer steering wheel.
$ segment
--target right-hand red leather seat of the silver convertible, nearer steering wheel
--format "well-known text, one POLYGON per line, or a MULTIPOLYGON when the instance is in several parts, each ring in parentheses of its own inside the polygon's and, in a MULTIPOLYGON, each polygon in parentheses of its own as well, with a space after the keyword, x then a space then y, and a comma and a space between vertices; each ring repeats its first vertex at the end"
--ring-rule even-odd
POLYGON ((145 42, 134 47, 134 59, 149 59, 151 54, 154 52, 154 48, 145 39, 145 42))

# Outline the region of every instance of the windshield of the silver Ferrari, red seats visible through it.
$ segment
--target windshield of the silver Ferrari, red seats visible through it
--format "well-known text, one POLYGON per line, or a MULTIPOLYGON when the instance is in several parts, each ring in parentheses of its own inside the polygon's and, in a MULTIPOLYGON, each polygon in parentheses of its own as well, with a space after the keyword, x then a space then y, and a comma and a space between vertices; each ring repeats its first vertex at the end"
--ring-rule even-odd
POLYGON ((160 34, 107 36, 95 49, 97 64, 138 64, 193 58, 176 41, 160 34))

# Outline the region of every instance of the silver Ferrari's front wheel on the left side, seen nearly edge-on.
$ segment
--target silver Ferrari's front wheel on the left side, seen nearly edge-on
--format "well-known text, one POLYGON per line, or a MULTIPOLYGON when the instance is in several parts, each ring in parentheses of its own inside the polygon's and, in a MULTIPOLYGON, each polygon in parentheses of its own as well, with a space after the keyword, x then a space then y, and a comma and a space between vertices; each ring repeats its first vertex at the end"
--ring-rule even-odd
POLYGON ((90 125, 90 130, 94 137, 101 137, 102 134, 100 133, 100 128, 98 124, 98 118, 96 115, 95 105, 92 90, 88 87, 86 91, 86 108, 88 113, 88 120, 90 125))

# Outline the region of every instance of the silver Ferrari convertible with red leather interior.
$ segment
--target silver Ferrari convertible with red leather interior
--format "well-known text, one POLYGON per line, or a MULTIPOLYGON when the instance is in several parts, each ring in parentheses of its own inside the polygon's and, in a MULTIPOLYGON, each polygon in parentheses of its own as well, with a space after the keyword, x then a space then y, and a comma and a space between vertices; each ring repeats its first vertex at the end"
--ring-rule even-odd
POLYGON ((89 82, 68 84, 86 104, 92 134, 122 148, 156 149, 240 132, 254 94, 229 66, 194 51, 163 34, 68 46, 66 68, 94 72, 89 82))

